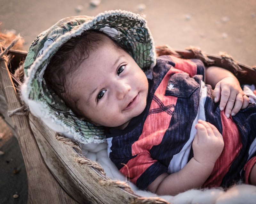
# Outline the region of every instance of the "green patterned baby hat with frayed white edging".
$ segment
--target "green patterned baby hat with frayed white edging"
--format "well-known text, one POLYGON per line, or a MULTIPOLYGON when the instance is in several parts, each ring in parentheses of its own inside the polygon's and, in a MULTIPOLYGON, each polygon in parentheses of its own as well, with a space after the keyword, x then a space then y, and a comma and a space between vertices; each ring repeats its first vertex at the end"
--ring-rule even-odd
POLYGON ((21 87, 22 99, 31 113, 48 127, 83 144, 105 142, 103 128, 76 117, 54 91, 47 89, 43 75, 51 57, 65 42, 91 29, 103 32, 127 47, 144 72, 156 63, 154 43, 146 20, 128 11, 63 18, 36 37, 24 62, 26 80, 21 87))

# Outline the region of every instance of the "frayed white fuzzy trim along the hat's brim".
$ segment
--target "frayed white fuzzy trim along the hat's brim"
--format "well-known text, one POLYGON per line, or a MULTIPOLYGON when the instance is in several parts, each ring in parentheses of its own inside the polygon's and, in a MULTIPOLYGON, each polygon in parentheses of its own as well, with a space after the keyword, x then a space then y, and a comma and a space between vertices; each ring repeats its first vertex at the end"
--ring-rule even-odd
MULTIPOLYGON (((65 43, 71 37, 80 35, 81 33, 83 33, 83 31, 90 29, 92 25, 96 24, 100 20, 103 20, 104 18, 107 18, 109 16, 115 16, 115 15, 126 16, 131 19, 140 21, 140 23, 142 23, 142 27, 145 27, 148 30, 148 35, 151 40, 151 46, 152 46, 152 48, 150 49, 149 56, 153 61, 150 69, 153 69, 154 65, 156 64, 156 52, 155 52, 155 46, 154 46, 152 34, 148 28, 146 20, 140 17, 139 14, 134 14, 130 11, 121 11, 121 10, 113 11, 112 10, 112 11, 105 11, 104 13, 99 13, 96 17, 80 25, 78 29, 65 33, 62 36, 60 36, 56 41, 54 41, 46 50, 44 50, 43 54, 38 58, 36 58, 36 60, 33 62, 31 67, 28 69, 28 77, 25 79, 24 84, 21 86, 21 98, 25 103, 28 104, 31 113, 41 118, 41 120, 43 120, 44 123, 50 128, 52 128, 54 131, 61 132, 64 135, 68 136, 70 139, 75 139, 76 141, 81 142, 82 144, 87 144, 90 142, 94 142, 94 143, 106 142, 106 139, 97 139, 96 135, 94 138, 85 139, 81 134, 75 131, 75 128, 67 126, 66 124, 64 124, 62 120, 58 119, 54 114, 52 114, 50 112, 51 108, 50 106, 48 106, 47 103, 39 102, 39 101, 35 102, 33 100, 30 100, 29 93, 32 90, 32 86, 31 86, 32 79, 35 78, 36 70, 40 67, 40 65, 45 60, 47 60, 50 57, 50 54, 54 51, 54 49, 56 49, 57 47, 60 47, 63 43, 65 43), (55 125, 53 125, 52 123, 55 123, 55 125)), ((37 81, 42 82, 41 77, 43 77, 44 70, 46 69, 47 65, 48 63, 42 68, 42 70, 40 71, 40 74, 36 77, 37 81)))

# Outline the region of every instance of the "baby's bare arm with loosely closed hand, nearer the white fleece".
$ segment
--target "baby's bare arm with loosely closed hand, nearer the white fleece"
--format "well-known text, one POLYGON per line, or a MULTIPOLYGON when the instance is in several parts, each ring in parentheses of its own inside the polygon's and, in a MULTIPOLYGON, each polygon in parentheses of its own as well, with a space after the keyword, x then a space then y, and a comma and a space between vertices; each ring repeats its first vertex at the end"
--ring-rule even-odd
POLYGON ((212 173, 224 142, 222 135, 212 124, 199 120, 197 134, 192 144, 194 157, 180 171, 157 177, 148 190, 159 195, 175 195, 204 184, 212 173))

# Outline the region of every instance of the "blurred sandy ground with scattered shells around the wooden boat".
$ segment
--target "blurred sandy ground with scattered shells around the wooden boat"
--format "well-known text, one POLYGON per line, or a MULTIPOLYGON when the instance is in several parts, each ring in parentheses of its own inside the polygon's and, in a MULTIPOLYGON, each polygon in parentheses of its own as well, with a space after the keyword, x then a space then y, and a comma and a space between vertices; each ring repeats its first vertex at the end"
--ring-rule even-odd
MULTIPOLYGON (((168 44, 179 50, 196 46, 213 55, 225 51, 237 62, 256 65, 255 0, 102 0, 97 7, 88 0, 2 0, 1 31, 20 33, 28 50, 37 34, 61 18, 95 16, 115 9, 145 15, 156 45, 168 44), (139 7, 144 9, 138 11, 139 7)), ((5 151, 0 156, 0 203, 26 203, 27 180, 17 140, 3 120, 0 126, 0 150, 5 151), (20 172, 14 175, 13 169, 17 167, 20 172), (20 197, 13 199, 15 193, 20 197)))

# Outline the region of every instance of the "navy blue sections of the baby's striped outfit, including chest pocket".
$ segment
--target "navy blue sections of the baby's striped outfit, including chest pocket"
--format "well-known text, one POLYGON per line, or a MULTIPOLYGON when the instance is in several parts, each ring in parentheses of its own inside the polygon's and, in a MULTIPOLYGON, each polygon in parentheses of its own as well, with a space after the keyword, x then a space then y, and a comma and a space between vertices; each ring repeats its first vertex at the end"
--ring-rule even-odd
MULTIPOLYGON (((163 111, 172 115, 169 127, 160 144, 154 145, 149 149, 151 157, 157 160, 157 162, 148 167, 137 179, 136 185, 140 189, 147 189, 148 185, 159 175, 167 172, 171 159, 175 154, 180 152, 189 139, 192 123, 197 115, 201 80, 204 79, 203 63, 198 60, 191 61, 196 62, 196 74, 200 75, 188 77, 186 73, 173 74, 169 78, 165 93, 163 93, 165 96, 178 97, 174 111, 172 111, 174 105, 164 106, 161 100, 154 94, 166 73, 169 69, 174 69, 173 67, 175 66, 175 63, 169 56, 161 56, 157 58, 156 66, 153 69, 153 79, 152 82, 150 81, 147 106, 143 113, 133 118, 124 130, 111 128, 107 134, 107 137, 113 137, 110 148, 112 152, 110 152, 109 157, 120 170, 123 167, 121 163, 127 164, 130 159, 137 156, 132 156, 132 144, 140 137, 147 116, 163 111), (149 111, 152 100, 159 105, 159 108, 149 111)), ((207 97, 204 104, 206 121, 212 123, 222 133, 219 103, 214 103, 213 101, 212 87, 210 85, 206 85, 206 87, 207 97)), ((248 159, 248 150, 256 135, 255 104, 251 104, 248 108, 240 110, 239 113, 233 116, 233 120, 241 133, 243 147, 239 156, 235 159, 228 173, 223 178, 221 183, 223 187, 230 186, 233 182, 241 179, 240 171, 242 171, 248 159)), ((193 150, 191 148, 188 161, 192 157, 193 150)))

